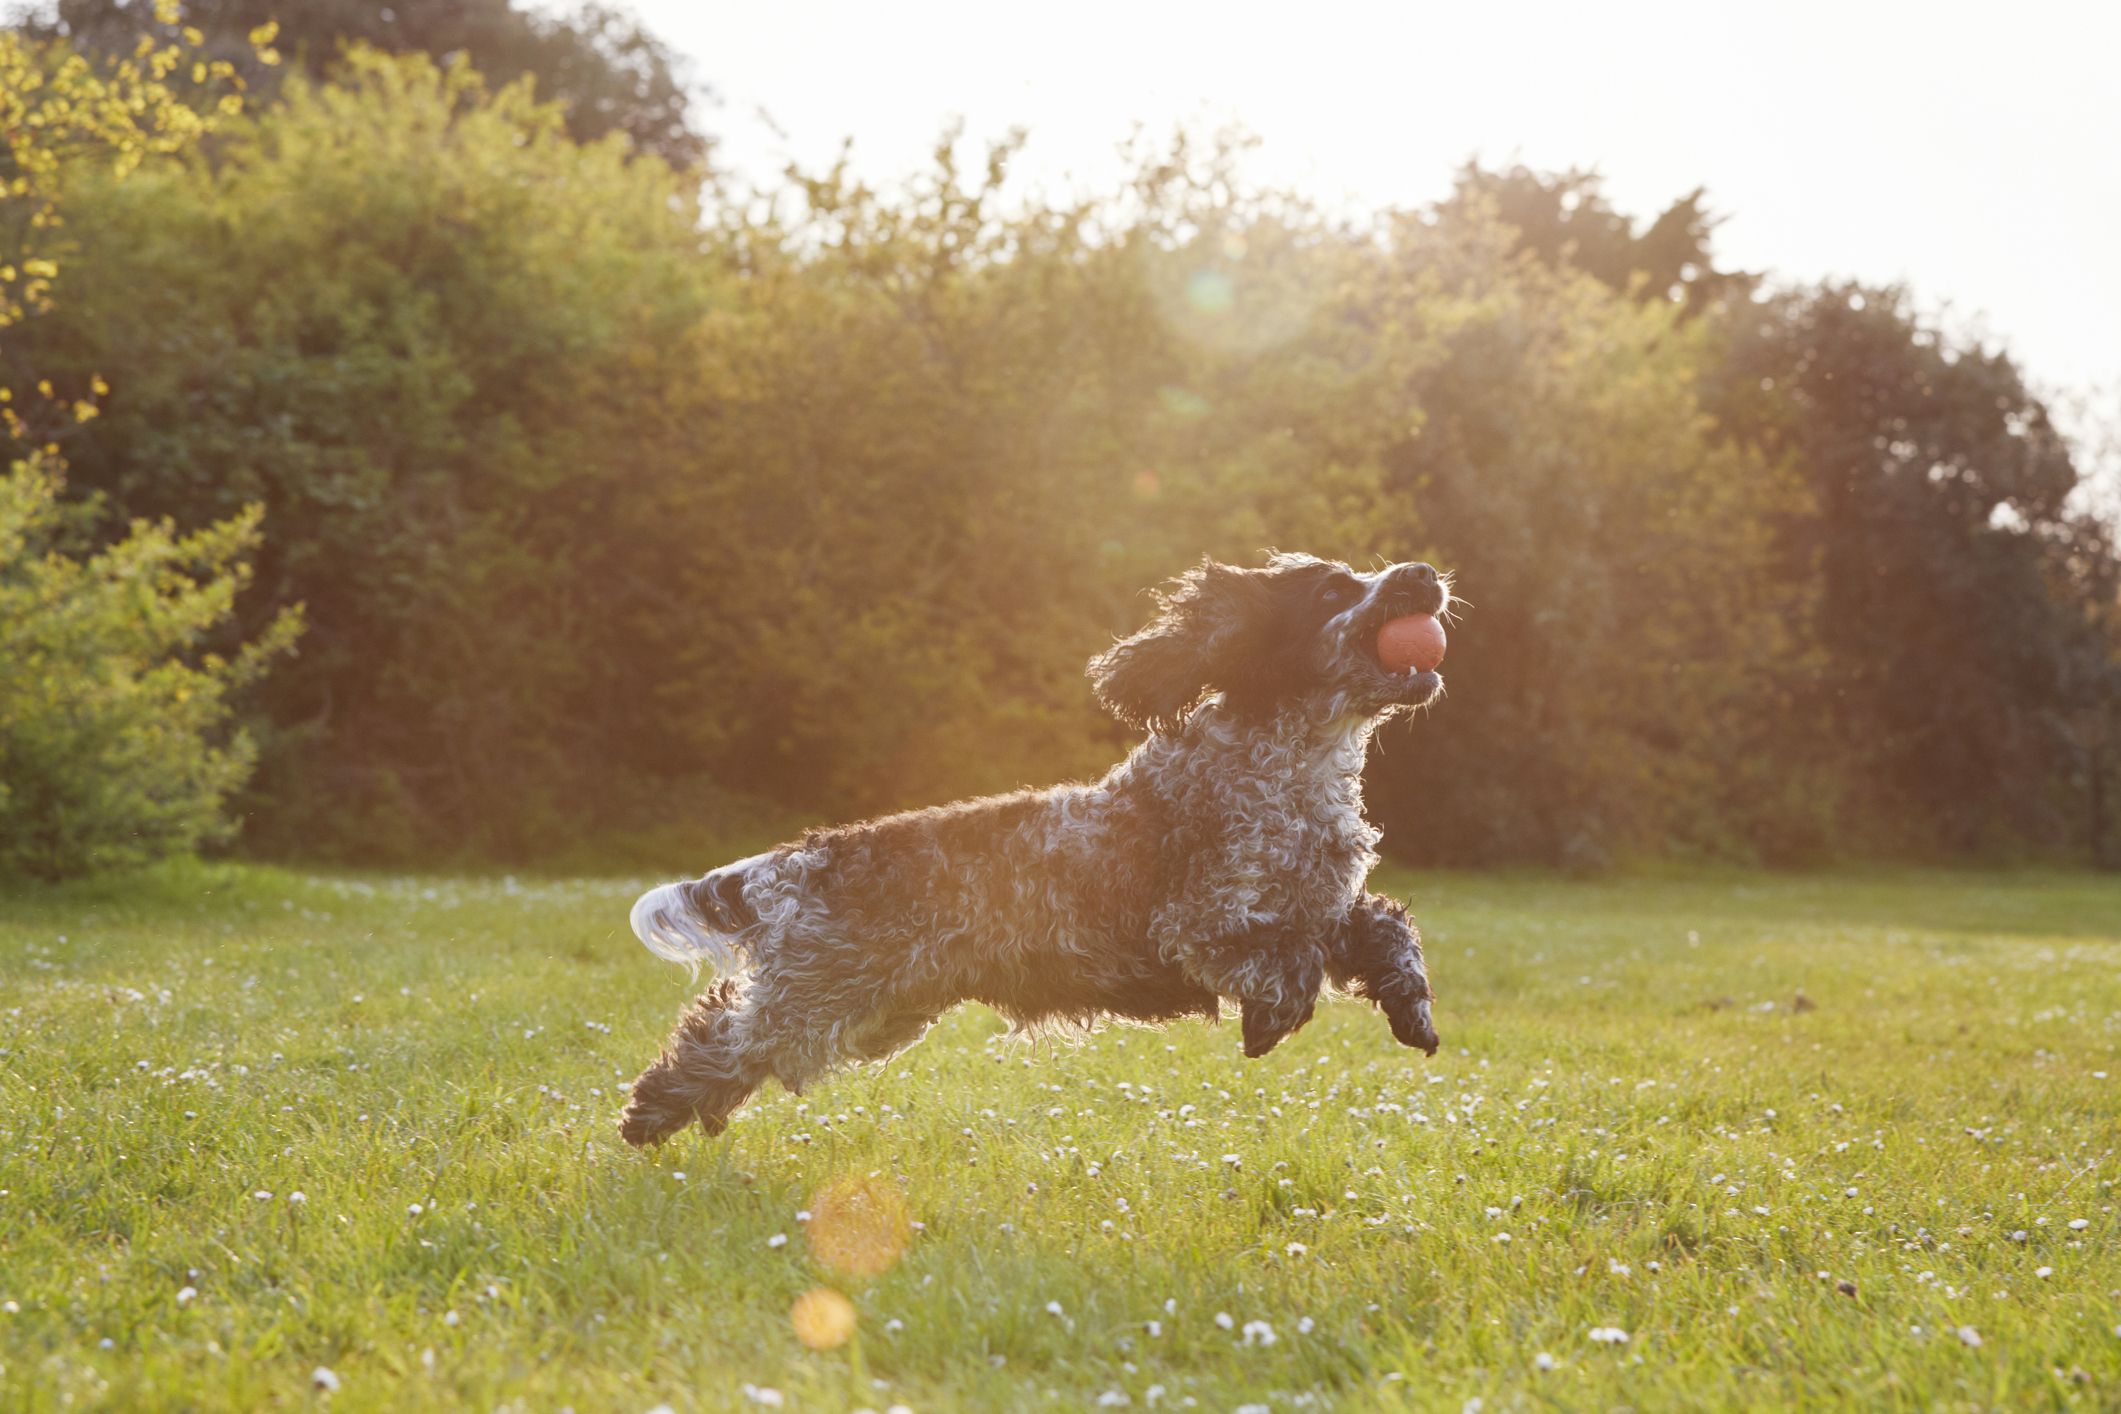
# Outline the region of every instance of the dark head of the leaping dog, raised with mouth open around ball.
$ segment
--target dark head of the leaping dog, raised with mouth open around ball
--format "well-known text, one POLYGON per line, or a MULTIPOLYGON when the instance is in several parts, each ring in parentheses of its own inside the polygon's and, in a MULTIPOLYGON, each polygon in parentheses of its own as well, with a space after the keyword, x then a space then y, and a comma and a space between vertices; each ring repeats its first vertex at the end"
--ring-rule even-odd
POLYGON ((1442 613, 1451 587, 1434 566, 1364 575, 1334 560, 1275 555, 1247 570, 1205 560, 1158 596, 1156 619, 1090 659, 1097 700, 1145 731, 1173 731, 1207 695, 1270 717, 1321 719, 1427 706, 1436 672, 1391 672, 1377 657, 1389 619, 1442 613))

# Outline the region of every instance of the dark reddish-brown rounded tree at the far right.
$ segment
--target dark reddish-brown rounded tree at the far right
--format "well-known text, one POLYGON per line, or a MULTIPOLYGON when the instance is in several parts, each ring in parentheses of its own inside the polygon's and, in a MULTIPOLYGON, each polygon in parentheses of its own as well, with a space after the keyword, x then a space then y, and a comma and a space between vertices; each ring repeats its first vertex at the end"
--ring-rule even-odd
POLYGON ((2121 697, 2121 558, 2047 407, 1898 288, 1737 305, 1724 333, 1712 407, 1811 490, 1784 564, 1820 583, 1807 712, 1862 818, 1915 848, 2068 837, 2070 723, 2121 697))

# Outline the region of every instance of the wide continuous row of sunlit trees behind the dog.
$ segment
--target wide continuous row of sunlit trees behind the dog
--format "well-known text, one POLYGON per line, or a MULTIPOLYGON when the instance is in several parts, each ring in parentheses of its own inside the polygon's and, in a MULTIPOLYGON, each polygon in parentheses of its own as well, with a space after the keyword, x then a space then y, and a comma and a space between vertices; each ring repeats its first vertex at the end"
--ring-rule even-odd
POLYGON ((1181 140, 1054 201, 946 138, 891 195, 702 206, 528 83, 329 74, 78 174, 95 278, 19 339, 119 388, 70 439, 112 509, 269 509, 231 634, 312 628, 259 848, 579 854, 1090 774, 1126 740, 1084 659, 1266 545, 1459 572, 1455 695, 1374 767, 1391 848, 2098 835, 2117 555, 2070 449, 1890 299, 1843 329, 1845 290, 1718 269, 1699 193, 1637 231, 1584 174, 1468 170, 1340 220, 1181 140))

